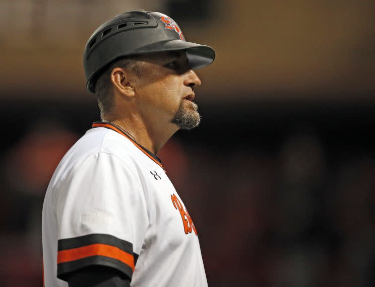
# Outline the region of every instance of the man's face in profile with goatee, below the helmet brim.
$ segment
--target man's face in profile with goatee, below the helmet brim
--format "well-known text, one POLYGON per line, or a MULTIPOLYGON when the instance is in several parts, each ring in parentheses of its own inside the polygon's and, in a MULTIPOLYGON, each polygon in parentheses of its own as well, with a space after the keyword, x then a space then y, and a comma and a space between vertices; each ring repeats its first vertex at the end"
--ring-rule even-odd
POLYGON ((138 58, 136 97, 147 120, 191 129, 200 122, 194 89, 201 85, 184 51, 160 52, 138 58))

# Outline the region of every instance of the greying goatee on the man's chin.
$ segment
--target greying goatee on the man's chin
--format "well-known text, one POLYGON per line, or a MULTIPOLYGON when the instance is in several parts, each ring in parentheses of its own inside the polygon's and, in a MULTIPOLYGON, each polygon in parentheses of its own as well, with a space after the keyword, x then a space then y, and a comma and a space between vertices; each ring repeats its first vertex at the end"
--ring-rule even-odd
POLYGON ((175 123, 179 128, 192 129, 201 122, 201 115, 198 113, 198 105, 193 102, 182 100, 172 123, 175 123))

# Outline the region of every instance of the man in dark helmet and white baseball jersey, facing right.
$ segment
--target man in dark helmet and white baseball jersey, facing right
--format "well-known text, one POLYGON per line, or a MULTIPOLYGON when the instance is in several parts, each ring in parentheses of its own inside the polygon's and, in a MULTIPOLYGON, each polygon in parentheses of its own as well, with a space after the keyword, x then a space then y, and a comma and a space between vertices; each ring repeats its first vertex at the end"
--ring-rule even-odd
POLYGON ((91 36, 84 67, 102 121, 48 186, 45 286, 207 286, 197 230, 156 154, 199 124, 193 69, 214 58, 161 13, 123 13, 91 36))

